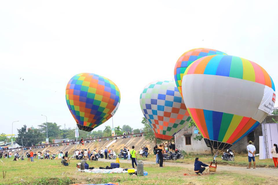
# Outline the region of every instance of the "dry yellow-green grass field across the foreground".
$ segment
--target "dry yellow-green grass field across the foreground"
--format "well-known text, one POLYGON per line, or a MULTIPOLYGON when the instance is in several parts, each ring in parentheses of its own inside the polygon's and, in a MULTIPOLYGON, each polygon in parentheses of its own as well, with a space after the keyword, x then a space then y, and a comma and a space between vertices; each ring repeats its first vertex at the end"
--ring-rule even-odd
MULTIPOLYGON (((151 159, 151 158, 150 158, 151 159)), ((190 158, 189 158, 190 160, 190 158)), ((184 160, 186 161, 186 159, 184 160)), ((35 162, 6 161, 1 164, 2 171, 6 171, 6 178, 0 179, 0 185, 68 185, 74 183, 100 184, 107 182, 120 182, 120 185, 147 185, 147 184, 269 184, 267 179, 244 174, 218 172, 213 175, 191 175, 184 176, 184 173, 192 174, 192 169, 181 166, 168 166, 159 168, 157 165, 145 165, 144 170, 148 176, 137 177, 129 174, 93 174, 76 171, 78 160, 71 160, 69 166, 62 166, 60 160, 35 160, 35 162)), ((110 162, 88 162, 90 166, 109 166, 110 162)), ((191 162, 191 160, 190 160, 191 162)), ((120 163, 122 168, 131 168, 129 163, 120 163)))

